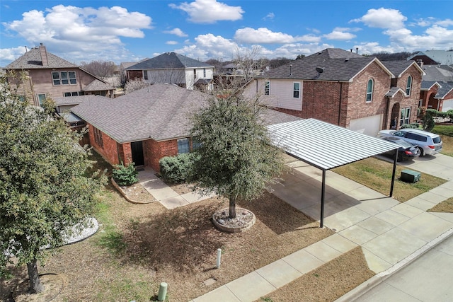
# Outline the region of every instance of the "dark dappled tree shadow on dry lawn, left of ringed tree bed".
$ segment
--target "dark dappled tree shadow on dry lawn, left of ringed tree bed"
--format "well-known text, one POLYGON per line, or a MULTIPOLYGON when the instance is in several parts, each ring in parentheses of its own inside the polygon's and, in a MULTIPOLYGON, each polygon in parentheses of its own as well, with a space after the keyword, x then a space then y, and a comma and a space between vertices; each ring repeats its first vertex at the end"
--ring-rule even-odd
POLYGON ((211 216, 220 205, 197 202, 131 221, 123 233, 127 248, 122 262, 182 273, 212 268, 214 252, 231 236, 212 225, 211 216))

